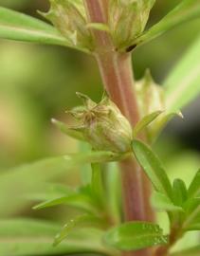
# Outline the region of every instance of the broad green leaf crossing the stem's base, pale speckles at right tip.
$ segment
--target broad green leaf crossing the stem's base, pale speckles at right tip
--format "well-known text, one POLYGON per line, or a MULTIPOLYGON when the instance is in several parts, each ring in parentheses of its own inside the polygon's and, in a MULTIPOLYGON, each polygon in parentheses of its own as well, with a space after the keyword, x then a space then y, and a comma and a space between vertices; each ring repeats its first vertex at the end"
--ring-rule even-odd
POLYGON ((110 229, 105 233, 104 241, 119 250, 138 250, 168 244, 168 238, 162 234, 162 229, 148 222, 130 222, 110 229))

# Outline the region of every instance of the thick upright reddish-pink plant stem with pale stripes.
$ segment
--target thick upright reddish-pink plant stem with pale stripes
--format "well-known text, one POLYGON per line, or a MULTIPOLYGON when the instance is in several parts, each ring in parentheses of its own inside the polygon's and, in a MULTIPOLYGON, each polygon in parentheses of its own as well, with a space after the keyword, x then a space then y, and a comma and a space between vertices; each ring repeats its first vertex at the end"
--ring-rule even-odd
MULTIPOLYGON (((107 0, 85 0, 85 6, 91 22, 106 23, 107 0)), ((115 50, 108 33, 93 30, 96 40, 95 57, 100 67, 100 75, 112 101, 122 114, 134 126, 139 120, 139 112, 134 89, 134 76, 130 53, 119 53, 115 50)), ((123 206, 126 221, 153 220, 149 205, 150 184, 141 172, 134 157, 120 162, 123 206)), ((150 249, 137 252, 124 252, 124 256, 149 256, 150 249)))

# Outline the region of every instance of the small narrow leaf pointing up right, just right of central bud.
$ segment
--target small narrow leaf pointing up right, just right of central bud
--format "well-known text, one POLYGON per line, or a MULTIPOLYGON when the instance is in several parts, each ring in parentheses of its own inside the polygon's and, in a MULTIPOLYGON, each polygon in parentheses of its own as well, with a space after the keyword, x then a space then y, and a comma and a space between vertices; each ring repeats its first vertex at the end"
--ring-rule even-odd
POLYGON ((148 126, 151 122, 153 122, 160 114, 162 111, 155 111, 154 113, 151 113, 147 116, 145 116, 143 119, 138 121, 136 123, 136 126, 134 128, 133 134, 134 137, 137 137, 137 135, 146 127, 148 126))

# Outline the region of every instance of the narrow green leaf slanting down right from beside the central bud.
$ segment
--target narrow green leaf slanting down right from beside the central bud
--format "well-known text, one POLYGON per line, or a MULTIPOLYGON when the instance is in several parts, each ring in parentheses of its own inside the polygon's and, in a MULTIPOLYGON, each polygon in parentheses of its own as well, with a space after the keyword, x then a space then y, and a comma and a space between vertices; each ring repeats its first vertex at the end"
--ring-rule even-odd
POLYGON ((132 146, 137 161, 149 176, 155 190, 166 194, 173 200, 173 189, 159 158, 147 145, 139 140, 134 139, 132 146))

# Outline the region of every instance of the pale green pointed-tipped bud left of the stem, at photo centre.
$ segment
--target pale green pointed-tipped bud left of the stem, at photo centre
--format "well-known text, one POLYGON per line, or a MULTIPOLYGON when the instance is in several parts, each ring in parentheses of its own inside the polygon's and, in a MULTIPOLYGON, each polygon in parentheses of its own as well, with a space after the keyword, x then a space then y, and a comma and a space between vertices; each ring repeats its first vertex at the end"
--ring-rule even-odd
POLYGON ((84 108, 74 109, 70 113, 81 120, 77 130, 82 132, 93 149, 115 153, 129 152, 133 138, 132 127, 117 105, 108 98, 96 103, 82 94, 79 96, 84 101, 84 108))

